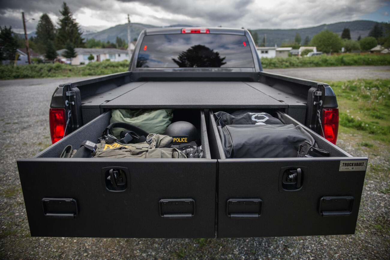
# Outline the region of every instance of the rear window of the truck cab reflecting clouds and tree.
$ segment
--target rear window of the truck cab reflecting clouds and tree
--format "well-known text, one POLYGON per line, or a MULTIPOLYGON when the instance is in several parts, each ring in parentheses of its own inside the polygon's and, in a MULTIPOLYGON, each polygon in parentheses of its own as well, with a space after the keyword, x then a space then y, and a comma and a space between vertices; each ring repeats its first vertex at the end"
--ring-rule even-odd
POLYGON ((138 68, 253 68, 244 35, 182 33, 147 35, 138 68))

